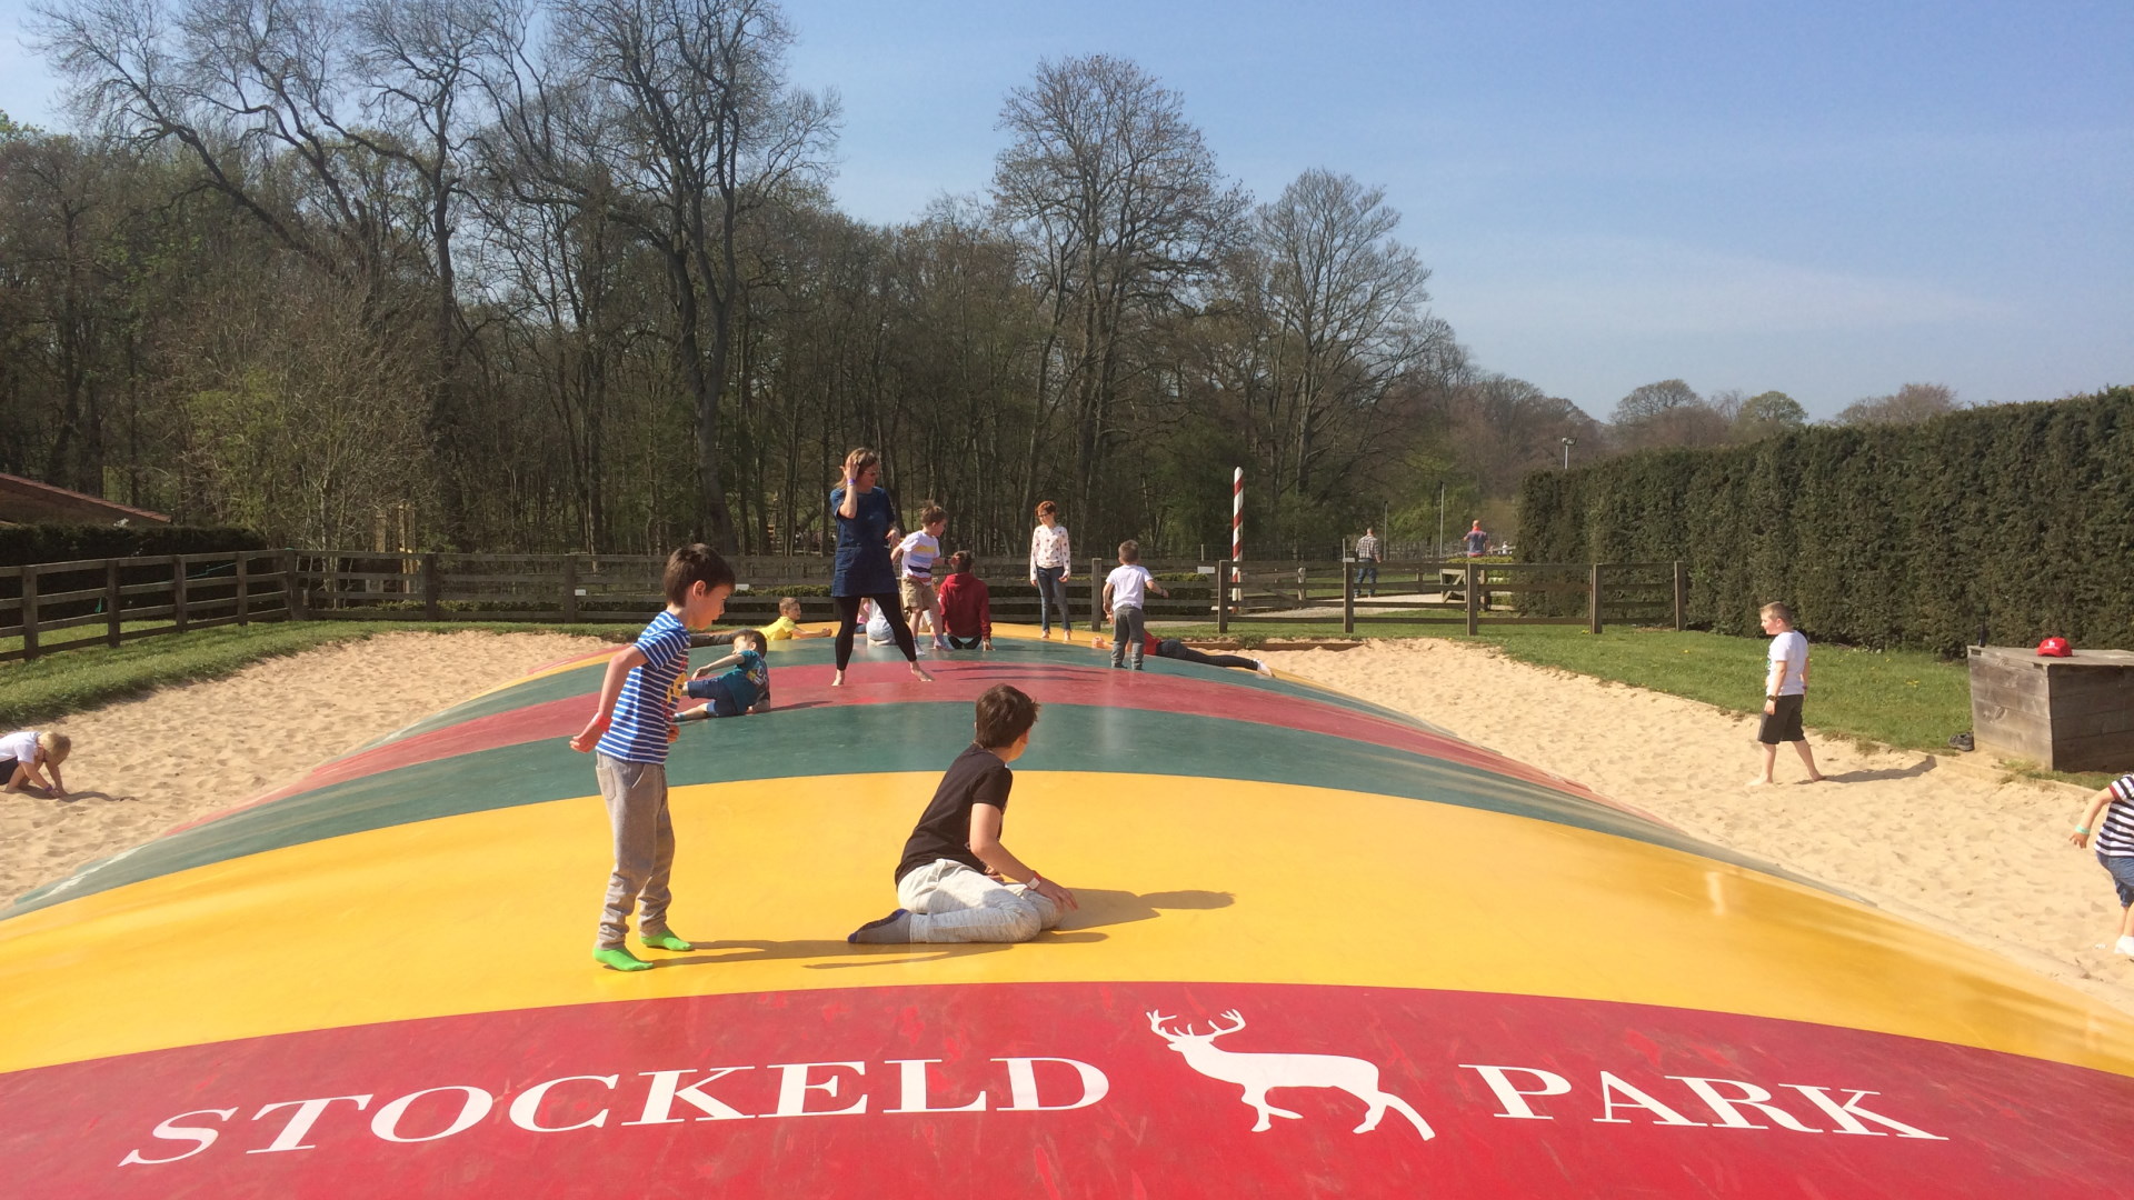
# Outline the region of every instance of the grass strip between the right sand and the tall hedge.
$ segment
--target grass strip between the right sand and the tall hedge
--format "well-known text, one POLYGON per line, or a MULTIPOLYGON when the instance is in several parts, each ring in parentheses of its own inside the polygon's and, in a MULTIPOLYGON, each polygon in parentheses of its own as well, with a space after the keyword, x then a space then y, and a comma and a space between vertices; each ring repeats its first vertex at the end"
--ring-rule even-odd
MULTIPOLYGON (((1216 636, 1214 626, 1165 628, 1163 636, 1216 636)), ((1272 623, 1236 621, 1231 636, 1246 645, 1265 638, 1338 638, 1340 621, 1272 623)), ((1498 626, 1477 636, 1464 623, 1372 623, 1355 636, 1434 636, 1496 645, 1507 658, 1556 666, 1703 700, 1735 713, 1763 711, 1765 638, 1609 626, 1594 636, 1586 626, 1498 626)), ((1810 728, 1895 745, 1948 752, 1948 735, 1972 728, 1970 668, 1925 651, 1869 651, 1816 645, 1807 666, 1810 728)), ((2012 773, 2102 788, 2111 775, 2066 775, 2010 764, 2012 773)))

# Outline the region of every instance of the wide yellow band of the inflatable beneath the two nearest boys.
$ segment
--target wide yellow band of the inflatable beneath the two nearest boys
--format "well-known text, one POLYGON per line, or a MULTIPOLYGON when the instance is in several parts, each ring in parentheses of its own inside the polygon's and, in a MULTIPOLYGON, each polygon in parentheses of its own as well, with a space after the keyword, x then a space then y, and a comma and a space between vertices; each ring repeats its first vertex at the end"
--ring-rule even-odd
POLYGON ((634 976, 589 959, 608 871, 598 796, 354 833, 30 912, 0 922, 0 1072, 608 999, 1236 980, 1701 1008, 2134 1074, 2134 1021, 1876 910, 1622 837, 1300 786, 1022 773, 1007 843, 1084 897, 1061 933, 847 946, 892 907, 896 852, 935 781, 676 788, 672 918, 704 946, 634 976))

